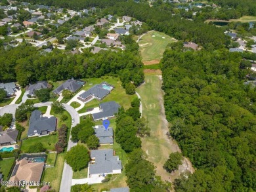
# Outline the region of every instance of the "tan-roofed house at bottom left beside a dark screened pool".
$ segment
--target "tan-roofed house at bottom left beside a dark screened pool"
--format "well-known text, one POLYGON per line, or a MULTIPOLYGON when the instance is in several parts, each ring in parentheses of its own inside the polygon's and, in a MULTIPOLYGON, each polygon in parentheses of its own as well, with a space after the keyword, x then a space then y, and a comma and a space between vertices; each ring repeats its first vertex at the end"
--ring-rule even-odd
MULTIPOLYGON (((30 186, 39 185, 43 173, 44 162, 33 163, 29 159, 24 158, 16 163, 12 170, 10 182, 19 185, 22 181, 30 182, 30 186)), ((25 185, 28 183, 24 182, 25 185)), ((25 186, 23 186, 25 187, 25 186)))

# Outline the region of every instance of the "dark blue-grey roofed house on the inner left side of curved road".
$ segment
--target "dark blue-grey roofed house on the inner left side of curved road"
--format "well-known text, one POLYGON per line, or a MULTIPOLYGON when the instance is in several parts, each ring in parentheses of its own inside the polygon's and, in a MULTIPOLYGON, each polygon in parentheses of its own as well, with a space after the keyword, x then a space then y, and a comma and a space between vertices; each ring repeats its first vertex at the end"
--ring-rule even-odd
POLYGON ((56 130, 56 117, 43 117, 41 111, 34 110, 30 116, 28 137, 43 136, 56 130))

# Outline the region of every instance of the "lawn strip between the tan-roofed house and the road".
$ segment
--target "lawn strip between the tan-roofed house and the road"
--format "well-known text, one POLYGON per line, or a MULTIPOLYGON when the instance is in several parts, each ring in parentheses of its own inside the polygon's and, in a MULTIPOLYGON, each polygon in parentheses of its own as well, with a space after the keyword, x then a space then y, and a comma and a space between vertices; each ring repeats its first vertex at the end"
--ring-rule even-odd
POLYGON ((53 168, 46 168, 45 176, 43 177, 43 182, 50 182, 51 187, 56 191, 59 191, 60 189, 62 170, 64 167, 64 156, 65 153, 58 154, 55 166, 53 168))

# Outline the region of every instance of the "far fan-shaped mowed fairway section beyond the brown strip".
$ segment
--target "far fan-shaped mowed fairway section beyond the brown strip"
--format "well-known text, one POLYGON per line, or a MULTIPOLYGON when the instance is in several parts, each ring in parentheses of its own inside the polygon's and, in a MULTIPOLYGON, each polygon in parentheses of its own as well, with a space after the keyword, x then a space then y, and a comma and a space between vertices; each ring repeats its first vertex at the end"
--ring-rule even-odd
POLYGON ((150 31, 149 33, 146 33, 138 42, 142 61, 158 60, 160 62, 166 46, 173 41, 175 40, 169 35, 165 35, 165 33, 160 33, 158 31, 150 31))

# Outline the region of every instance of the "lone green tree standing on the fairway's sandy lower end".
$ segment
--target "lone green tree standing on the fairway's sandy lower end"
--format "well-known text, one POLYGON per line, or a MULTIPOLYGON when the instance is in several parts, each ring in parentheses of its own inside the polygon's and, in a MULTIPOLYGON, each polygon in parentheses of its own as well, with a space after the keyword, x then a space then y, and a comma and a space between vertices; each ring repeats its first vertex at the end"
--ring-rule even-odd
POLYGON ((171 153, 169 155, 169 159, 163 165, 163 168, 167 170, 167 172, 173 172, 179 168, 179 165, 182 164, 182 154, 179 152, 171 153))

